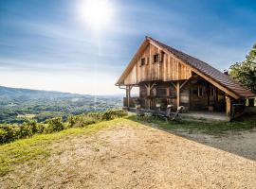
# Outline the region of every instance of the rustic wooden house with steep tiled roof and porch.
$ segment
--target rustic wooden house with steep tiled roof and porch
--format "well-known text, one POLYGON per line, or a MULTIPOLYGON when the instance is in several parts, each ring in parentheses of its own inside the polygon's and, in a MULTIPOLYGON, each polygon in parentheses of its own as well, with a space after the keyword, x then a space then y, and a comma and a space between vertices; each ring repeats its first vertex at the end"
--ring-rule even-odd
POLYGON ((236 116, 243 112, 246 98, 255 96, 228 74, 150 37, 141 43, 116 85, 125 86, 123 106, 128 110, 136 104, 145 110, 155 110, 156 104, 164 110, 172 104, 189 112, 236 116), (139 87, 137 97, 131 97, 134 86, 139 87))

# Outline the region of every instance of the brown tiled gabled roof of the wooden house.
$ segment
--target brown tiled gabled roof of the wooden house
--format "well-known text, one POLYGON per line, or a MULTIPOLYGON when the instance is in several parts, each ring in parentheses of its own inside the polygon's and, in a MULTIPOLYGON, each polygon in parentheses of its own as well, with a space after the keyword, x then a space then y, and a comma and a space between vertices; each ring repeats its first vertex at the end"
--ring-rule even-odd
MULTIPOLYGON (((219 70, 213 68, 208 63, 206 63, 202 60, 193 58, 192 56, 190 56, 188 54, 185 54, 179 50, 176 50, 173 47, 168 46, 164 43, 160 43, 150 37, 146 37, 146 40, 141 44, 139 50, 142 48, 143 44, 145 45, 146 42, 152 43, 155 46, 164 50, 165 52, 173 54, 177 59, 182 60, 183 62, 188 64, 192 68, 193 72, 195 72, 196 74, 198 74, 201 77, 204 77, 213 85, 217 85, 217 87, 222 88, 222 89, 223 88, 227 89, 230 92, 229 94, 235 98, 252 97, 252 96, 256 95, 256 94, 253 94, 252 92, 250 92, 241 83, 235 81, 231 77, 229 77, 229 76, 225 75, 224 73, 220 72, 219 70)), ((135 64, 136 59, 137 59, 137 54, 135 55, 133 60, 131 60, 131 62, 127 66, 126 70, 124 71, 122 76, 119 78, 118 84, 120 83, 121 79, 124 79, 124 77, 127 76, 128 72, 135 64)))

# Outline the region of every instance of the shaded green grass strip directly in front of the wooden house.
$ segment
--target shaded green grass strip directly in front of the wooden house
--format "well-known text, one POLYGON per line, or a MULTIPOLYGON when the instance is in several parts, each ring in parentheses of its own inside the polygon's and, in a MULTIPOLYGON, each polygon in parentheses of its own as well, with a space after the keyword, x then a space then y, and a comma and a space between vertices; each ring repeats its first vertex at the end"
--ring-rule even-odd
MULTIPOLYGON (((130 116, 130 119, 133 121, 137 121, 137 117, 135 115, 130 116)), ((148 125, 153 125, 159 129, 171 131, 187 131, 189 133, 202 132, 210 135, 224 135, 230 131, 242 131, 256 128, 256 108, 250 108, 242 118, 233 122, 203 122, 185 120, 181 122, 167 122, 158 118, 153 118, 151 120, 151 123, 148 123, 148 125)))

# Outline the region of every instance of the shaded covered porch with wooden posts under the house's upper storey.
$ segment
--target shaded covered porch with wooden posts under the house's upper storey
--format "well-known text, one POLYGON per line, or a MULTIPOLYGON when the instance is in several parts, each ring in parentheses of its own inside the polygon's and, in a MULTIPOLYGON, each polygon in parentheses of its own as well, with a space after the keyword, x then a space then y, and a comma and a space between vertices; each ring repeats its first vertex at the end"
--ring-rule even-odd
POLYGON ((192 99, 196 98, 199 88, 194 88, 191 80, 166 83, 143 82, 139 85, 126 85, 123 89, 126 89, 126 96, 123 97, 123 109, 129 112, 136 112, 137 105, 139 105, 141 112, 156 114, 158 111, 155 108, 156 104, 160 104, 161 112, 166 111, 167 105, 173 105, 172 112, 176 112, 179 106, 185 107, 181 113, 184 119, 230 121, 240 116, 245 110, 244 104, 232 103, 228 94, 210 87, 209 83, 206 83, 205 92, 202 92, 205 96, 197 98, 197 101, 192 101, 192 99), (131 96, 134 87, 139 88, 139 94, 131 96), (201 105, 202 101, 204 101, 203 105, 201 105))

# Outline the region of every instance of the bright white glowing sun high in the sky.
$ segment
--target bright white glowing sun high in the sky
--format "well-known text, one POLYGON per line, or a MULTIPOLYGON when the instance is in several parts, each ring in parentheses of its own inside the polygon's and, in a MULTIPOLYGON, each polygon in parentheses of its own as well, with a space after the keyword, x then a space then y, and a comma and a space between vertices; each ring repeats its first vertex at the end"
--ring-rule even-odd
POLYGON ((113 9, 108 0, 82 0, 79 11, 82 20, 97 29, 108 26, 113 19, 113 9))

